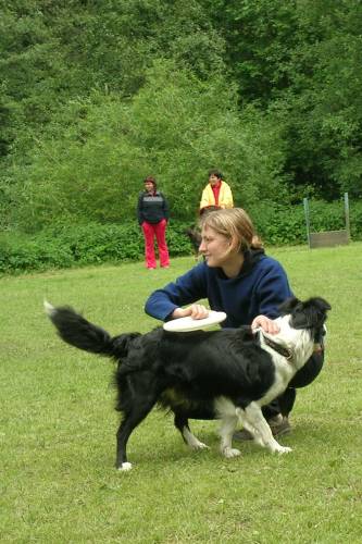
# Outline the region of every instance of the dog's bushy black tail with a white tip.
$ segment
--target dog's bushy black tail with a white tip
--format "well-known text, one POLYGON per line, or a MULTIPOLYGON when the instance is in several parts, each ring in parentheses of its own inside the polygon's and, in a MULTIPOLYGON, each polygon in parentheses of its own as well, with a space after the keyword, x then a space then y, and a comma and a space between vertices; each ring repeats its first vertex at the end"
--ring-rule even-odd
POLYGON ((43 305, 59 336, 71 346, 91 354, 117 359, 126 357, 129 343, 140 335, 140 333, 128 333, 112 338, 104 329, 90 323, 70 306, 54 308, 47 301, 43 305))

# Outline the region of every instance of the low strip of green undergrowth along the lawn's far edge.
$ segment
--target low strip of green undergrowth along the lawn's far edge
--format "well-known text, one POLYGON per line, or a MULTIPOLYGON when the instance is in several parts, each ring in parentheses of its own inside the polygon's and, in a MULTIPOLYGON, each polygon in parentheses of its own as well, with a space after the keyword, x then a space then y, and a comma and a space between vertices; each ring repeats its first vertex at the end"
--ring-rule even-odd
MULTIPOLYGON (((248 212, 266 246, 307 243, 301 205, 288 207, 261 202, 248 212)), ((342 202, 311 201, 310 222, 312 232, 344 228, 342 202)), ((362 201, 351 203, 350 224, 352 239, 362 239, 362 201)), ((166 236, 172 257, 191 254, 191 244, 185 234, 189 226, 195 226, 195 221, 170 221, 166 236)), ((136 221, 123 224, 59 224, 37 235, 8 232, 0 236, 2 273, 142 259, 143 237, 136 221)))

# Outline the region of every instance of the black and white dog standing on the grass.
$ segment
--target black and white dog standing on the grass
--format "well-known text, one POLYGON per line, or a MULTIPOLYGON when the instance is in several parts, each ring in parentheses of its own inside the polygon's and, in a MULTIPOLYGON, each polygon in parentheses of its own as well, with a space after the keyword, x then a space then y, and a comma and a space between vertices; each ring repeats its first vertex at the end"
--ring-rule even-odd
POLYGON ((261 407, 279 396, 312 353, 322 348, 330 306, 320 297, 286 300, 276 335, 249 326, 187 333, 158 327, 143 335, 111 337, 70 307, 53 308, 46 302, 46 310, 67 344, 117 361, 116 409, 123 419, 116 467, 129 470, 128 438, 157 404, 174 412, 175 426, 191 448, 207 446, 191 433, 188 419, 220 419, 225 457, 240 455, 232 446, 240 423, 261 446, 290 452, 274 438, 261 407))

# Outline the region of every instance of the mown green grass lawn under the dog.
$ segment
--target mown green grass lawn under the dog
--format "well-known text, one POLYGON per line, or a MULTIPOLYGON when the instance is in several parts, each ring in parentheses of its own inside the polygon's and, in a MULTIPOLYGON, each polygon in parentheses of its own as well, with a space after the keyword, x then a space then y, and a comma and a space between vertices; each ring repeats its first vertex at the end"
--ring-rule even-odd
POLYGON ((361 542, 362 244, 271 249, 295 293, 333 306, 327 361, 300 390, 294 452, 253 444, 219 455, 216 422, 192 422, 192 453, 154 410, 113 468, 118 415, 112 363, 63 344, 42 311, 71 304, 111 333, 147 332, 143 302, 194 264, 102 265, 0 280, 0 541, 16 543, 361 542))

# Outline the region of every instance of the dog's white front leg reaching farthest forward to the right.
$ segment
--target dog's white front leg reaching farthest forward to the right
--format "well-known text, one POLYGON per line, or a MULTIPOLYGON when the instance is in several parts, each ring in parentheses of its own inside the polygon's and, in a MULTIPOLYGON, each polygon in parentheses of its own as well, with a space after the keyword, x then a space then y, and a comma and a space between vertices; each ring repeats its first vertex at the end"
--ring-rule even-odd
POLYGON ((257 403, 250 403, 244 410, 240 408, 239 416, 258 444, 266 447, 272 453, 288 454, 291 452, 290 447, 280 446, 274 438, 272 430, 257 403))

